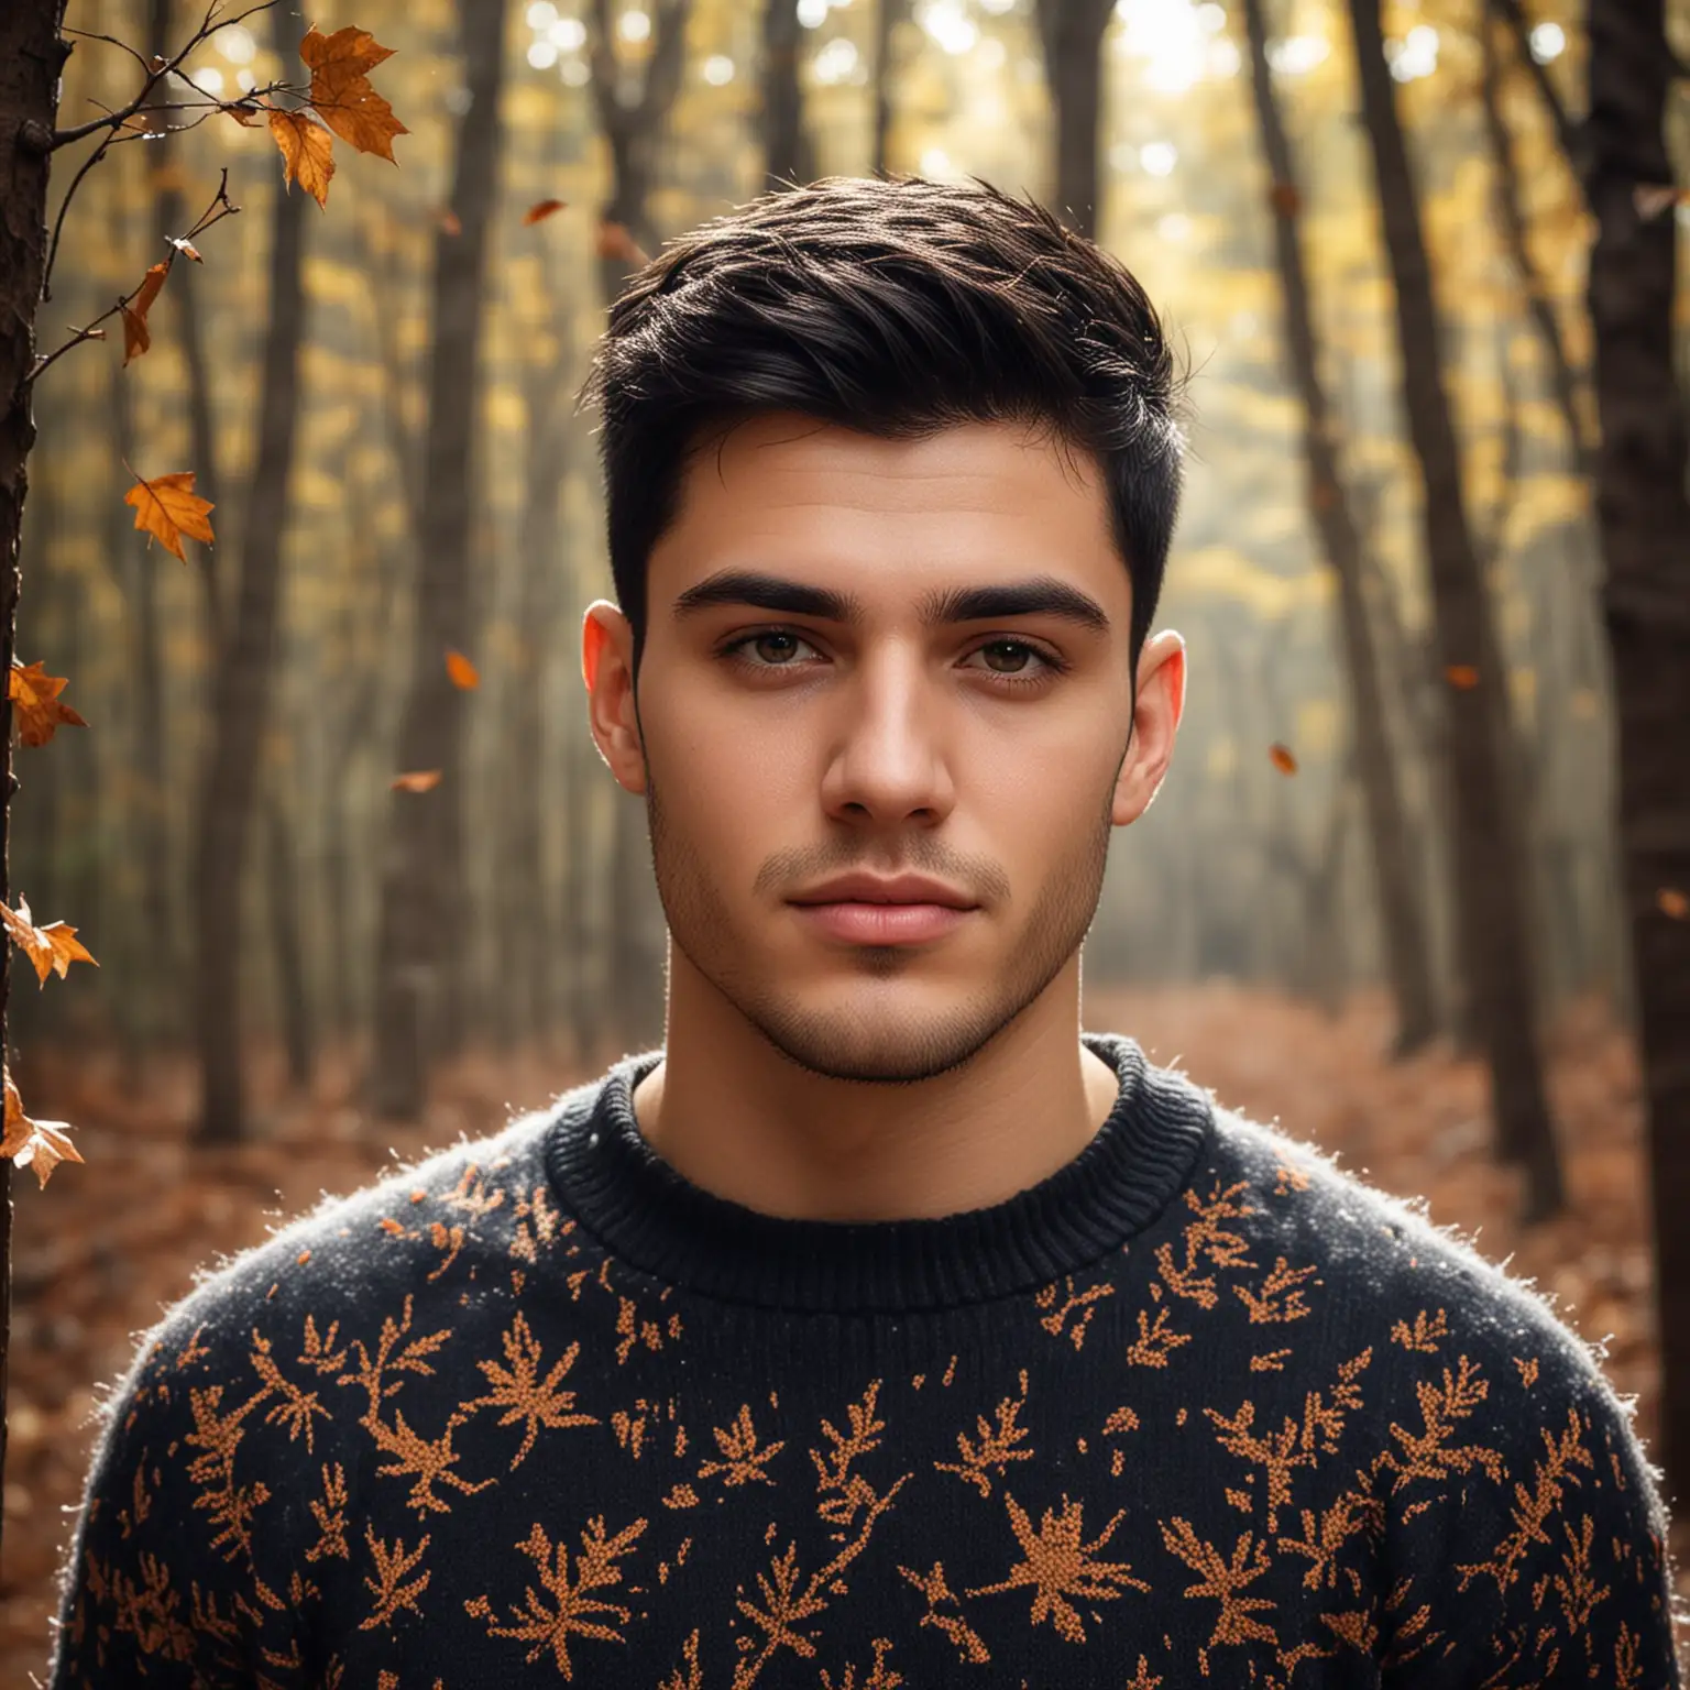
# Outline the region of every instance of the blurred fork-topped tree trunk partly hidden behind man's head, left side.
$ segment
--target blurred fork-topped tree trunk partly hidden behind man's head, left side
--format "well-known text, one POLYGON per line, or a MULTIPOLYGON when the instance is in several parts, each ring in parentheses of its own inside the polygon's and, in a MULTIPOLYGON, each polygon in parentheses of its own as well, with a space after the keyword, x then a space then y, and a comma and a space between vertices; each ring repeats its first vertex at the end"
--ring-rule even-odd
MULTIPOLYGON (((620 98, 610 0, 593 0, 590 47, 593 100, 610 144, 610 198, 602 215, 605 223, 629 230, 647 254, 657 245, 649 211, 652 166, 681 86, 691 0, 656 0, 654 14, 652 51, 637 100, 620 98)), ((629 274, 629 259, 607 250, 598 267, 605 304, 617 297, 629 274)), ((662 906, 651 874, 644 806, 637 808, 622 794, 613 816, 608 1028, 595 1028, 593 1038, 612 1031, 629 1044, 646 1046, 662 1036, 662 906)))

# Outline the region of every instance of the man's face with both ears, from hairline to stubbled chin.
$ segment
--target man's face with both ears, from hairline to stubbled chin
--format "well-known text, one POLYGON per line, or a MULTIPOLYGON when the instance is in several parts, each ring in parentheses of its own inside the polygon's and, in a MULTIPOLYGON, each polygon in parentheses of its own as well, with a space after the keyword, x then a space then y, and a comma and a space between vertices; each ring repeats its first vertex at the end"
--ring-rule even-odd
POLYGON ((1146 649, 1173 720, 1141 710, 1129 757, 1131 608, 1093 465, 1021 426, 771 412, 701 450, 651 558, 637 717, 625 620, 586 635, 671 968, 816 1073, 973 1056, 1078 968, 1110 826, 1166 766, 1183 651, 1146 649))

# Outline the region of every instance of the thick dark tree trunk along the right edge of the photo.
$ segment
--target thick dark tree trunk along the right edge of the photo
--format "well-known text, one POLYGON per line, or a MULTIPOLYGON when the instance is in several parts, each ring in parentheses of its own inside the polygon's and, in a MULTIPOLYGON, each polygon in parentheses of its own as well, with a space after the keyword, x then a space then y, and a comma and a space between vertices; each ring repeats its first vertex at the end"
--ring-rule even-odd
POLYGON ((1673 215, 1663 0, 1590 0, 1587 193, 1597 524, 1619 723, 1619 848, 1648 1107, 1661 1338, 1658 1458, 1690 1479, 1690 499, 1673 379, 1673 215))

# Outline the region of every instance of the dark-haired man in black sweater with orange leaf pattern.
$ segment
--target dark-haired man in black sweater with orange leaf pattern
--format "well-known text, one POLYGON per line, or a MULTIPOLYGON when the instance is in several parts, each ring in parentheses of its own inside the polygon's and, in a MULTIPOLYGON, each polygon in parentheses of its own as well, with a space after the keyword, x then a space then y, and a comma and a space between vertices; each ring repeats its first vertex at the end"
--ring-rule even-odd
POLYGON ((1132 277, 984 186, 828 179, 642 270, 590 389, 664 1048, 164 1322, 56 1683, 1678 1683, 1584 1344, 1080 1034, 1185 696, 1132 277))

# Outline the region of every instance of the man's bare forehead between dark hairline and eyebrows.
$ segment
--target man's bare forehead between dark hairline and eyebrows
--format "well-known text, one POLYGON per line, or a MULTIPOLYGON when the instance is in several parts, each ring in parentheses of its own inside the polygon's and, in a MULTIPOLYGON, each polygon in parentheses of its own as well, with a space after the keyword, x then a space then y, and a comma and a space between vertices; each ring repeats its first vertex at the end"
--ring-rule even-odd
MULTIPOLYGON (((673 600, 723 566, 852 576, 874 593, 1055 573, 1124 595, 1109 504, 1088 455, 1022 422, 882 439, 762 412, 693 451, 649 593, 673 600)), ((1112 603, 1114 608, 1114 603, 1112 603)))

